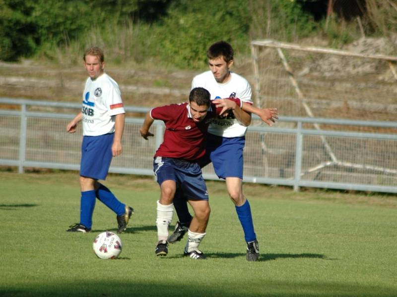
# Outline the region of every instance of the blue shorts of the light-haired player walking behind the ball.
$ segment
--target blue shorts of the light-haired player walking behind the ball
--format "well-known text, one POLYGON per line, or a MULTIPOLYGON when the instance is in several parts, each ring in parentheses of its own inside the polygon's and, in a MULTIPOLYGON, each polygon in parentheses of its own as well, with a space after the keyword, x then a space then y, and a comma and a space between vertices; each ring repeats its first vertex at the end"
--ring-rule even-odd
POLYGON ((81 144, 80 175, 105 180, 112 161, 114 133, 84 136, 81 144))

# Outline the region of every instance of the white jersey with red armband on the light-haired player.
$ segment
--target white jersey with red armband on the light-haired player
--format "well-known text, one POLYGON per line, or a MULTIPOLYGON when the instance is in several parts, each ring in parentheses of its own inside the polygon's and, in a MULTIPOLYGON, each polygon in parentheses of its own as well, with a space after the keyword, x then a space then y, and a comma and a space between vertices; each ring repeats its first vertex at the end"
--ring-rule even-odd
POLYGON ((125 113, 118 84, 103 73, 88 78, 83 93, 83 135, 99 136, 115 132, 115 115, 125 113))

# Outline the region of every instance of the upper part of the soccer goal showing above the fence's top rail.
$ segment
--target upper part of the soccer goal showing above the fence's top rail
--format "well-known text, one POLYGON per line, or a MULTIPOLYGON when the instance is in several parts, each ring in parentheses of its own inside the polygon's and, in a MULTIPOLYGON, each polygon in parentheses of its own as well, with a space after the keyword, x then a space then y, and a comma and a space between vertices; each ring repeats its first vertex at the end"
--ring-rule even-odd
POLYGON ((397 57, 363 44, 369 53, 252 41, 255 103, 285 116, 395 120, 397 57))

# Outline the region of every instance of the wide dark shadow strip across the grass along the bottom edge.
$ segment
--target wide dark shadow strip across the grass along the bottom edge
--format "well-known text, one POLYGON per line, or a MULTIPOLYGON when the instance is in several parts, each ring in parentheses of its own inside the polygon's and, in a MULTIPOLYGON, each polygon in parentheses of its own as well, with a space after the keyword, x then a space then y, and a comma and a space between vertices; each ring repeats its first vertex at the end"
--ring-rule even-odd
POLYGON ((1 288, 1 296, 7 297, 395 297, 395 287, 380 287, 371 285, 354 285, 344 282, 316 281, 266 281, 249 282, 243 286, 241 281, 220 283, 213 282, 197 284, 170 284, 159 280, 134 281, 126 278, 124 282, 106 281, 84 283, 76 280, 70 283, 51 282, 28 284, 19 287, 1 288))

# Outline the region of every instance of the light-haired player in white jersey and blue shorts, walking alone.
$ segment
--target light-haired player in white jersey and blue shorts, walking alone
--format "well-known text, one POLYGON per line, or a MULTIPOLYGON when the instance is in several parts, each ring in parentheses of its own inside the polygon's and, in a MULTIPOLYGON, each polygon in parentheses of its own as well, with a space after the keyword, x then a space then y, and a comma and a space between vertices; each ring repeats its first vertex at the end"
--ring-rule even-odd
POLYGON ((127 229, 133 213, 130 206, 120 202, 113 193, 99 183, 105 180, 112 156, 122 153, 125 110, 117 83, 104 72, 103 51, 90 48, 84 52, 84 67, 89 77, 85 82, 82 111, 67 126, 74 133, 82 121, 83 141, 80 161, 80 222, 69 227, 67 232, 90 232, 95 201, 98 198, 116 213, 118 233, 127 229))

